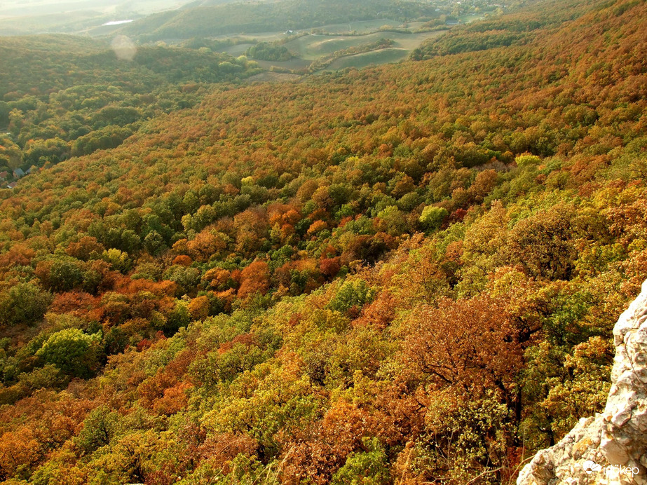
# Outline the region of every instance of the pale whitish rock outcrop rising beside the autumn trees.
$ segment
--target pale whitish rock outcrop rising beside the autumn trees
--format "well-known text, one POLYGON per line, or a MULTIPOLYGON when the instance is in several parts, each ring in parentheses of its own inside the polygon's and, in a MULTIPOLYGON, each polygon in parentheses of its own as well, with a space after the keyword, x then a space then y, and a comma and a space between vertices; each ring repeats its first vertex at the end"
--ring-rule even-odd
POLYGON ((580 419, 561 442, 537 453, 517 485, 647 485, 647 281, 613 336, 604 412, 580 419))

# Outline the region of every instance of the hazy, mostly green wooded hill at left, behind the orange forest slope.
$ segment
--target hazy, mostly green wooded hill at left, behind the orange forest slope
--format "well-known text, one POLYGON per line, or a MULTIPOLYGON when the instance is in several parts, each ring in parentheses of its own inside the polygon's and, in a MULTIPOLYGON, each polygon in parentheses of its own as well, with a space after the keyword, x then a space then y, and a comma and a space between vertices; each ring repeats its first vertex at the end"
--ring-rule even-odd
POLYGON ((0 171, 114 148, 147 119, 198 104, 213 83, 226 88, 261 71, 245 57, 135 51, 119 40, 111 46, 60 35, 0 39, 0 171))

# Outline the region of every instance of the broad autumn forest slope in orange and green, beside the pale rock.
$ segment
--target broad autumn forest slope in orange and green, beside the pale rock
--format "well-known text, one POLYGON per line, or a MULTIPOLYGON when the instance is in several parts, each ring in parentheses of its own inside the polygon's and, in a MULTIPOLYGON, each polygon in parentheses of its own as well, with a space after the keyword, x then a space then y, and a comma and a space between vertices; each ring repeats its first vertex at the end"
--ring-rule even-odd
POLYGON ((0 478, 514 482, 601 411, 647 276, 645 32, 641 0, 545 0, 200 85, 1 190, 0 478))

